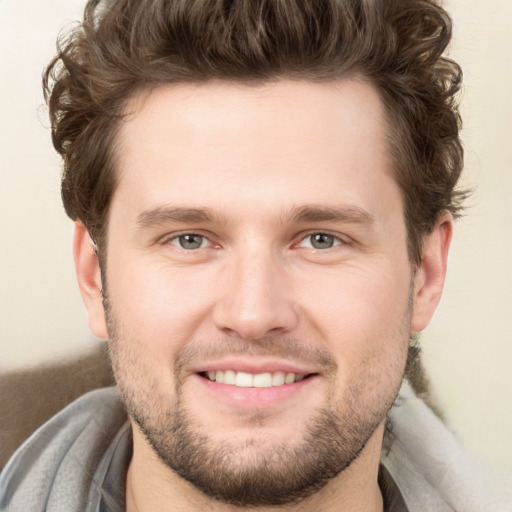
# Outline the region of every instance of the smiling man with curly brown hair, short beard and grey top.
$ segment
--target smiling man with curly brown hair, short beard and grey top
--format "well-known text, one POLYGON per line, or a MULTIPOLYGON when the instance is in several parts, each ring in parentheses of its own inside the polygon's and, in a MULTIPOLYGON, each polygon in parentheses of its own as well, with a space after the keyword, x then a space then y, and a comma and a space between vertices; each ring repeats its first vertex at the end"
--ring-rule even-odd
POLYGON ((403 383, 464 196, 449 40, 425 0, 88 3, 45 89, 119 395, 2 510, 485 509, 403 383))

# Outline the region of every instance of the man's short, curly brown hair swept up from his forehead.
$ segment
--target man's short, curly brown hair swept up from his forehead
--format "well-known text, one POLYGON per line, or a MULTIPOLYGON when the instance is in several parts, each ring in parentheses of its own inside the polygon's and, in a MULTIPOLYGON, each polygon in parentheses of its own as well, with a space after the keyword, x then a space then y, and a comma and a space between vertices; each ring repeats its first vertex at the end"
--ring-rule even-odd
POLYGON ((127 101, 173 82, 358 75, 388 114, 411 262, 440 212, 455 216, 463 150, 451 21, 433 0, 89 0, 44 76, 66 212, 101 248, 127 101))

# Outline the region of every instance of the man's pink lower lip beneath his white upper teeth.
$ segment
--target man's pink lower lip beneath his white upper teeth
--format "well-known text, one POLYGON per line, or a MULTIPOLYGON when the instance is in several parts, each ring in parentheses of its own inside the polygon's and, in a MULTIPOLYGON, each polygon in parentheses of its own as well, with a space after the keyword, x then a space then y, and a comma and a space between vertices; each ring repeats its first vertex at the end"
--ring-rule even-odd
POLYGON ((317 377, 312 375, 293 384, 283 384, 282 386, 272 386, 269 388, 244 388, 220 384, 200 375, 195 375, 195 377, 200 381, 200 385, 204 386, 206 391, 211 393, 216 399, 229 405, 247 408, 271 406, 292 399, 295 396, 301 395, 306 388, 317 380, 317 377))

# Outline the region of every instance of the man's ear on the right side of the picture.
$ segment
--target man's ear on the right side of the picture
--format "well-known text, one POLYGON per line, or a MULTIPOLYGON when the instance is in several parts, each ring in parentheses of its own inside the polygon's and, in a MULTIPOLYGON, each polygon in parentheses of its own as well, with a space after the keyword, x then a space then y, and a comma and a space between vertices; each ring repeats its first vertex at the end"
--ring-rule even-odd
POLYGON ((445 212, 423 238, 421 263, 414 278, 413 332, 425 329, 441 299, 452 233, 453 218, 445 212))

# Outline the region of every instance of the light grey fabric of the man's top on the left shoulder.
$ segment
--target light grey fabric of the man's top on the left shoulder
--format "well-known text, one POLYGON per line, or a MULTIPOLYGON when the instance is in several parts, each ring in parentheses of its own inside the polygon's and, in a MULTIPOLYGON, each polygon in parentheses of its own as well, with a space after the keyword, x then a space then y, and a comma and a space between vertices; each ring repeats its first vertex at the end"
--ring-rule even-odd
POLYGON ((13 455, 0 475, 0 510, 97 510, 116 445, 128 432, 115 388, 83 395, 13 455))

